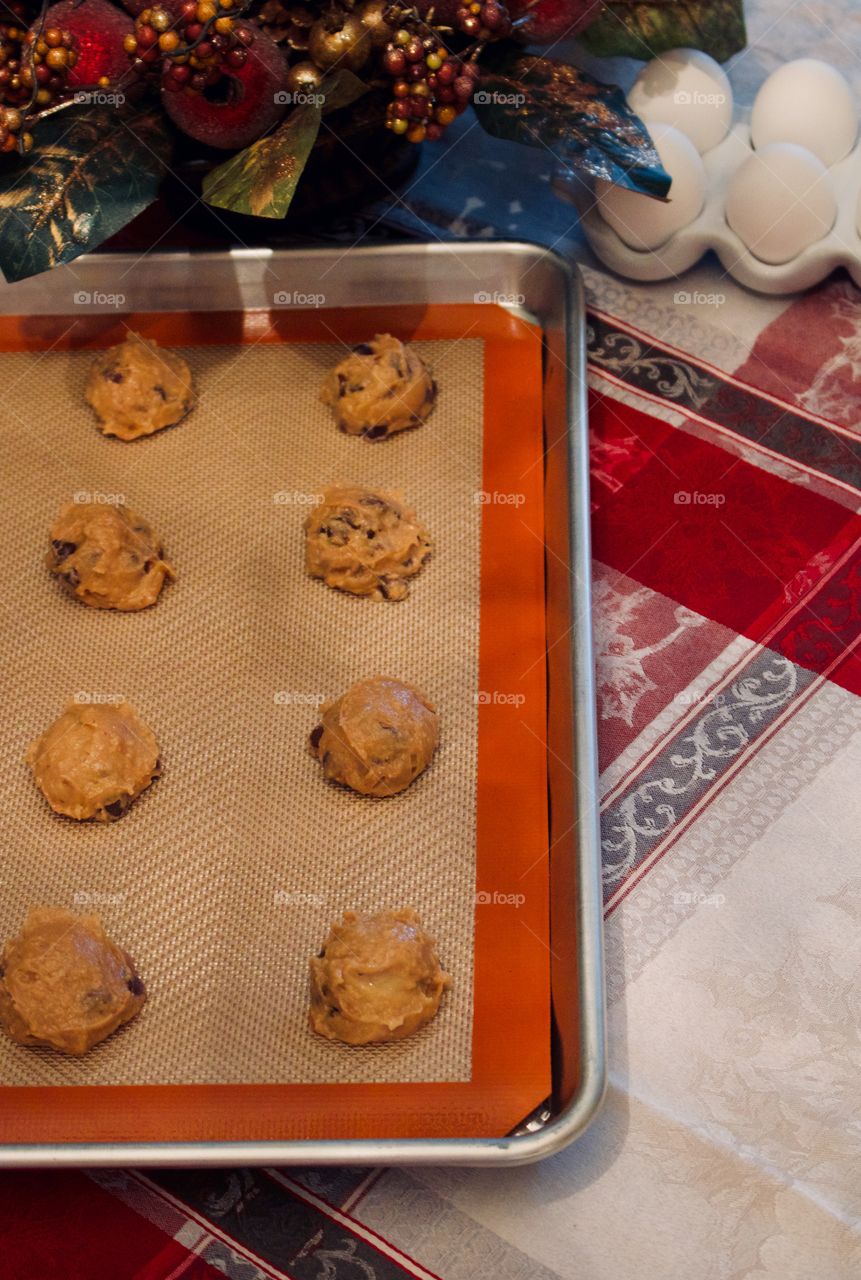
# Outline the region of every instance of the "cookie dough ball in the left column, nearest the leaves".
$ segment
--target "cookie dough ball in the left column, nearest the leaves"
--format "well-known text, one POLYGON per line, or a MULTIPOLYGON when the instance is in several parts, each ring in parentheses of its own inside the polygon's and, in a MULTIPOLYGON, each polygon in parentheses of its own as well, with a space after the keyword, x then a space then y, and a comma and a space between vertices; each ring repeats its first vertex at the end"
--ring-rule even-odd
POLYGON ((173 426, 194 404, 191 370, 182 356, 137 333, 96 357, 86 397, 105 435, 120 440, 173 426))

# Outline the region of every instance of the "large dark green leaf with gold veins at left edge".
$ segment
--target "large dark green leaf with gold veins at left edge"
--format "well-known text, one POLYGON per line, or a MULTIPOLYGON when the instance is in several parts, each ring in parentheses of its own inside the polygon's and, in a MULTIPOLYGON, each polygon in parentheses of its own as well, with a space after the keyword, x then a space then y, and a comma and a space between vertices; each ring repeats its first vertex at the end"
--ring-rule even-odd
POLYGON ((0 170, 0 270, 23 280, 96 248, 152 204, 170 159, 159 108, 70 106, 0 170))

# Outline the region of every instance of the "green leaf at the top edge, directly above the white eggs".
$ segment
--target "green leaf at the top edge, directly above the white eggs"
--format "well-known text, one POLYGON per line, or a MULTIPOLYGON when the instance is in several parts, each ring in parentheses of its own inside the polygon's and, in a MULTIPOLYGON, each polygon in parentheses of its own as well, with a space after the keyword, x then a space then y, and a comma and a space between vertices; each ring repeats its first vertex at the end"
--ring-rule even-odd
POLYGON ((604 0, 580 38, 599 58, 650 59, 686 47, 723 63, 747 40, 743 0, 604 0))

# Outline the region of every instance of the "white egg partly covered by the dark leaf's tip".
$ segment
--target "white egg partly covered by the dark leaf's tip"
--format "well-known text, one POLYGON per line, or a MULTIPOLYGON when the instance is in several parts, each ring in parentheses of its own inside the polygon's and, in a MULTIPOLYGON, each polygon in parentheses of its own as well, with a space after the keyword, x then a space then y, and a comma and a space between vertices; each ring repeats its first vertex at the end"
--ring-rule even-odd
POLYGON ((705 168, 691 140, 672 124, 654 124, 650 133, 660 163, 673 179, 667 201, 615 187, 604 178, 595 183, 604 220, 626 244, 640 250, 660 248, 674 232, 692 223, 705 204, 705 168))

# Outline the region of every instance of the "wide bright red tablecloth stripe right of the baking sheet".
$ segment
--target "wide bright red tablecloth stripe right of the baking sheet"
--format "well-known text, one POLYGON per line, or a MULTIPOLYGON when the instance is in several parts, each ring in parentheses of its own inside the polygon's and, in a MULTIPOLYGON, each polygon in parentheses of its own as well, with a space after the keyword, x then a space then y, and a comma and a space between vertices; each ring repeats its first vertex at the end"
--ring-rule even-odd
POLYGON ((597 559, 739 635, 768 636, 810 671, 832 668, 832 680, 861 692, 857 658, 834 667, 857 634, 858 516, 597 393, 591 428, 604 474, 614 458, 613 483, 592 485, 597 559), (681 493, 709 500, 679 503, 681 493), (819 590, 841 558, 839 584, 819 590), (800 602, 803 634, 797 616, 788 621, 800 602))

